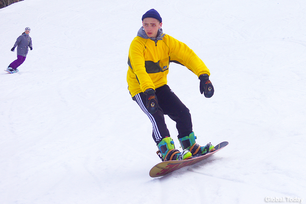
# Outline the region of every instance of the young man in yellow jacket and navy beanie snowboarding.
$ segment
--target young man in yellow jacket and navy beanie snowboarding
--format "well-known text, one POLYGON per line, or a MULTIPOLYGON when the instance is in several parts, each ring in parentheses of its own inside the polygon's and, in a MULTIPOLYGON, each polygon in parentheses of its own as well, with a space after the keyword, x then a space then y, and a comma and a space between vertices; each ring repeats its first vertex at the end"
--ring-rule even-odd
POLYGON ((175 62, 199 77, 201 94, 210 98, 214 87, 209 69, 186 44, 162 32, 162 18, 155 9, 143 15, 142 23, 129 48, 127 82, 132 99, 152 122, 159 157, 162 161, 184 160, 213 151, 211 143, 201 147, 195 142, 189 109, 167 85, 169 64, 175 62), (176 122, 182 152, 174 147, 164 115, 176 122))

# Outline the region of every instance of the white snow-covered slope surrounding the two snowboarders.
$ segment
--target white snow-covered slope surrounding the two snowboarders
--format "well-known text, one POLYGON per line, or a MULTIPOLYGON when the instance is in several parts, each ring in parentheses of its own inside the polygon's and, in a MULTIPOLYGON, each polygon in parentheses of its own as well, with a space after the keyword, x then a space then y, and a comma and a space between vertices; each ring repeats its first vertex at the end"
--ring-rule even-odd
POLYGON ((0 203, 306 200, 305 8, 303 0, 24 0, 0 9, 2 69, 24 28, 33 41, 19 73, 0 72, 0 203), (192 72, 170 64, 168 85, 190 109, 197 143, 230 143, 155 179, 151 124, 126 83, 129 45, 151 8, 211 71, 215 95, 205 98, 192 72))

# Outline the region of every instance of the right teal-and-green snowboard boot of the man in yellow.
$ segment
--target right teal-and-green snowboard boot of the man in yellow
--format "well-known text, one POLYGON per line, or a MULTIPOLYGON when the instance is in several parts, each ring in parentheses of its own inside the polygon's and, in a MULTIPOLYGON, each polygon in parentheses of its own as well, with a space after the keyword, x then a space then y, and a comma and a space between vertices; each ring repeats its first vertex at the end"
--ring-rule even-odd
POLYGON ((180 141, 181 147, 187 149, 192 153, 192 156, 201 156, 207 154, 208 152, 215 151, 215 146, 208 143, 206 146, 201 147, 196 143, 196 136, 194 132, 190 133, 188 136, 178 139, 180 141))

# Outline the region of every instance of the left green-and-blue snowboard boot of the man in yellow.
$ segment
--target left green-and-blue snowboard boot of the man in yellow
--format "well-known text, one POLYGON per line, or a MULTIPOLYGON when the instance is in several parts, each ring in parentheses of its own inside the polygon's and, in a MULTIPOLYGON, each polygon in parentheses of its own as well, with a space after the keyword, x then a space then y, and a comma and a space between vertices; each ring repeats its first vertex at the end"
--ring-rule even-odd
POLYGON ((185 160, 191 159, 192 154, 189 150, 183 150, 180 152, 175 149, 174 142, 171 137, 165 137, 160 141, 157 145, 158 151, 156 154, 162 161, 170 161, 170 160, 185 160))

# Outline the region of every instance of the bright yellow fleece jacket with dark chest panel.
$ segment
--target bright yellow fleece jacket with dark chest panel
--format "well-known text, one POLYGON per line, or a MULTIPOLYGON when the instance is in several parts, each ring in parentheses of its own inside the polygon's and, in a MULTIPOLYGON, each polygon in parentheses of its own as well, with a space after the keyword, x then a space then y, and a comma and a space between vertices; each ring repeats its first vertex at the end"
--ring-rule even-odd
POLYGON ((127 82, 132 97, 167 84, 170 62, 186 66, 198 77, 210 75, 204 62, 186 44, 166 34, 156 41, 136 36, 130 45, 127 82))

